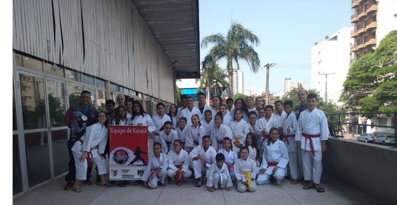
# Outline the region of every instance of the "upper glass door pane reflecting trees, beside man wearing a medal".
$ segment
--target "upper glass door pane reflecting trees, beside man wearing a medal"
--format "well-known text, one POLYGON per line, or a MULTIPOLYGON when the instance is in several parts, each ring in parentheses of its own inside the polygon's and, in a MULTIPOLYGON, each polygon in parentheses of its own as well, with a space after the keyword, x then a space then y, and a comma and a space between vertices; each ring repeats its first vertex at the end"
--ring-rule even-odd
POLYGON ((47 80, 47 89, 51 127, 65 126, 65 84, 62 82, 47 80))

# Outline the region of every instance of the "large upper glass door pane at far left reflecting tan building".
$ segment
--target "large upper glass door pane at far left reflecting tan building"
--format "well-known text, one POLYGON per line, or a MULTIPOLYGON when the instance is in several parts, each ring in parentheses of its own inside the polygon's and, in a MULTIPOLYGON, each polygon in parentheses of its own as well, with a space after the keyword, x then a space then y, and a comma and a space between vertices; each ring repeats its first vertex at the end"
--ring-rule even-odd
POLYGON ((44 79, 19 74, 25 130, 47 128, 44 79))

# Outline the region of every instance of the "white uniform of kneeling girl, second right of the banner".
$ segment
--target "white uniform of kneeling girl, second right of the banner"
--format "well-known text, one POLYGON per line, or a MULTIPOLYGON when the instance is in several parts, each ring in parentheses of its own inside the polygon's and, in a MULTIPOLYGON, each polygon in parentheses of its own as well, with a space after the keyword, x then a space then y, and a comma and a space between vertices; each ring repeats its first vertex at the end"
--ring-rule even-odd
POLYGON ((175 175, 177 173, 177 165, 182 165, 182 171, 185 173, 183 174, 183 179, 187 180, 190 176, 192 176, 192 171, 189 169, 190 165, 190 158, 187 151, 181 149, 181 152, 177 154, 175 150, 170 150, 167 154, 168 156, 168 171, 167 175, 175 181, 175 175))

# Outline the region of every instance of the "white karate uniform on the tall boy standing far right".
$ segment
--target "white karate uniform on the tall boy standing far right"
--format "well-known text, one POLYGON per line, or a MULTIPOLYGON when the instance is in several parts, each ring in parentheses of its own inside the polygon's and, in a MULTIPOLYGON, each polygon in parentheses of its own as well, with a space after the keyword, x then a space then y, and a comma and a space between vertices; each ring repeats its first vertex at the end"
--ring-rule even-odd
POLYGON ((301 141, 301 149, 303 150, 303 176, 305 180, 313 180, 314 183, 320 184, 323 172, 321 141, 328 140, 328 135, 327 117, 323 111, 314 108, 312 112, 307 109, 300 113, 295 140, 301 141), (320 135, 320 137, 311 138, 313 141, 314 154, 310 148, 310 138, 304 137, 303 133, 307 135, 320 135))

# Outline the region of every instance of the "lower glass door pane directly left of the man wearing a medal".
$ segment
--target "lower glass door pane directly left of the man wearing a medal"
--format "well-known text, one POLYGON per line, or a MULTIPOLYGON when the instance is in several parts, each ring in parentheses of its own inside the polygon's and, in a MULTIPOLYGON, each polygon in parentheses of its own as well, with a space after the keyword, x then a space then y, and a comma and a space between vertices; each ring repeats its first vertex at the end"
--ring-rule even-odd
POLYGON ((67 172, 68 169, 67 129, 51 131, 51 142, 53 148, 54 176, 58 176, 67 172))

